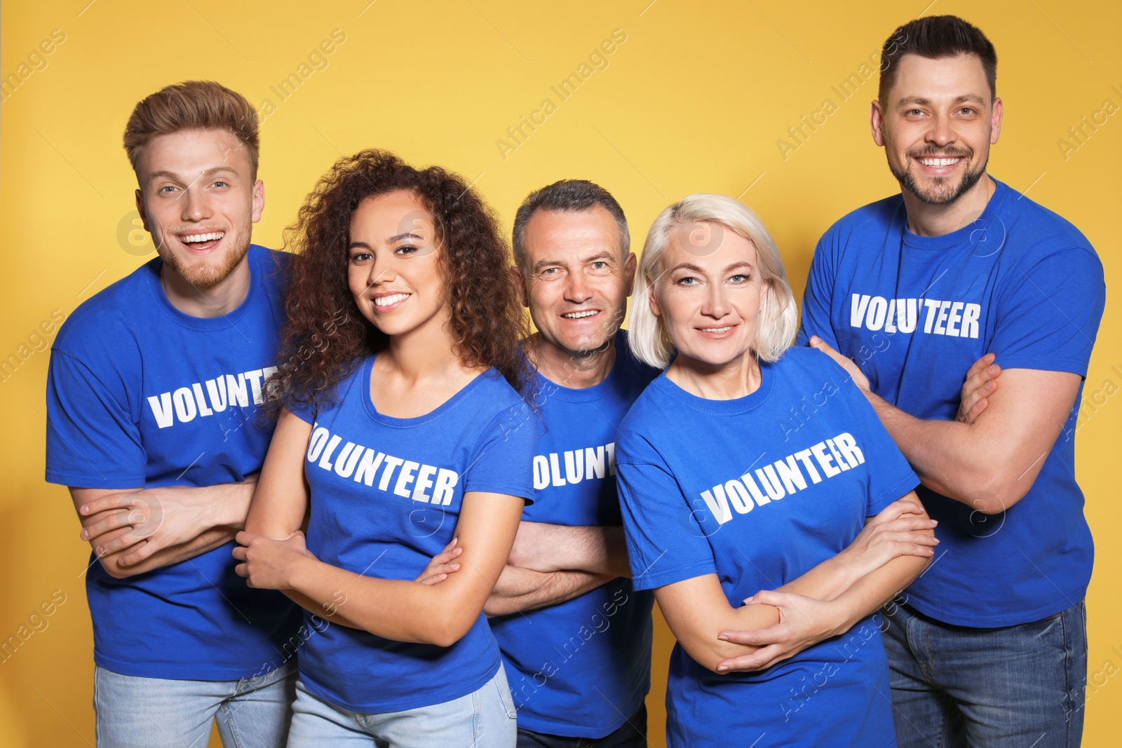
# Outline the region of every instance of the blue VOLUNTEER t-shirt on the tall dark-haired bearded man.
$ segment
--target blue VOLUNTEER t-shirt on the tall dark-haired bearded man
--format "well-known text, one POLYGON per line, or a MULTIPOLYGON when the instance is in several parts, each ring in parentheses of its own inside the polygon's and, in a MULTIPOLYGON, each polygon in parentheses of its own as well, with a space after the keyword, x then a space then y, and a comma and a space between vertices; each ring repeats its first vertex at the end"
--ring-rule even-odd
MULTIPOLYGON (((988 352, 1003 369, 1085 377, 1105 293, 1087 239, 1001 182, 976 221, 942 237, 911 233, 896 195, 846 215, 818 242, 799 342, 817 334, 892 405, 953 421, 966 370, 988 352)), ((1008 511, 984 515, 919 490, 940 544, 908 588, 910 604, 948 624, 999 627, 1083 599, 1094 545, 1075 482, 1079 395, 1075 404, 1032 488, 1008 511)))

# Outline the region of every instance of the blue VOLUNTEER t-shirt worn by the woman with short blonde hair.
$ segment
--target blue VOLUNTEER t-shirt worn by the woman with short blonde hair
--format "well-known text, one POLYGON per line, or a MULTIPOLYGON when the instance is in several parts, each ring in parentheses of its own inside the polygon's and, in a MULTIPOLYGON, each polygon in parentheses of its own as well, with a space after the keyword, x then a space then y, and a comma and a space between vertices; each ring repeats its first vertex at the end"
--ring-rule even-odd
MULTIPOLYGON (((636 589, 717 574, 739 608, 840 553, 919 482, 828 357, 790 349, 760 369, 758 389, 733 400, 663 375, 624 418, 617 478, 636 589), (784 430, 803 396, 813 412, 784 430)), ((894 746, 880 637, 870 616, 766 671, 727 675, 675 645, 668 745, 894 746)))

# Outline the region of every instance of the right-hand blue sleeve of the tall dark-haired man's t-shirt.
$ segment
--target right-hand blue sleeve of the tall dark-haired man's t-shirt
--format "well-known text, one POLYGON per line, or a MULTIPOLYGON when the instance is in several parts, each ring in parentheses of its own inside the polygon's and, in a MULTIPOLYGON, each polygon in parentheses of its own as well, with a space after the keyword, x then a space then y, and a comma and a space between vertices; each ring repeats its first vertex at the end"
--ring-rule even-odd
POLYGON ((1103 266, 1086 248, 1051 252, 1013 268, 999 297, 991 351, 1003 369, 1087 376, 1106 302, 1103 266))

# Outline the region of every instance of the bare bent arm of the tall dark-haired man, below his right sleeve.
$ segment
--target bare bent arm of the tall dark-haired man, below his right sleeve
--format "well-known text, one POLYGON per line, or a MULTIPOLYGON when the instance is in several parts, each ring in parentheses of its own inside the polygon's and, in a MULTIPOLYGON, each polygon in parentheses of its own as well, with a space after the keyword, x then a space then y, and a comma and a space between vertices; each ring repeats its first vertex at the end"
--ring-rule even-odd
POLYGON ((811 345, 849 372, 925 486, 983 514, 1009 509, 1032 487, 1082 381, 1067 371, 1005 369, 973 421, 922 421, 868 391, 853 361, 817 338, 811 345))

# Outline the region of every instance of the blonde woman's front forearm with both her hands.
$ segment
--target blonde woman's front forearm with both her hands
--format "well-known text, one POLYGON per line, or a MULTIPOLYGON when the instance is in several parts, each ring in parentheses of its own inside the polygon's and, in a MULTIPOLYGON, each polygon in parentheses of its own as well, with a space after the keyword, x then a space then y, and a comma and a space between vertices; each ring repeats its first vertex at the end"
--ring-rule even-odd
POLYGON ((935 520, 911 491, 870 519, 842 553, 778 590, 757 592, 745 604, 779 609, 779 624, 764 630, 724 630, 723 639, 758 649, 718 667, 757 671, 848 631, 919 576, 938 543, 935 520))

